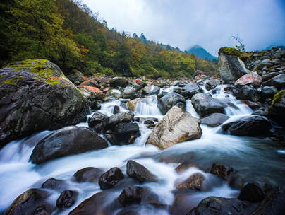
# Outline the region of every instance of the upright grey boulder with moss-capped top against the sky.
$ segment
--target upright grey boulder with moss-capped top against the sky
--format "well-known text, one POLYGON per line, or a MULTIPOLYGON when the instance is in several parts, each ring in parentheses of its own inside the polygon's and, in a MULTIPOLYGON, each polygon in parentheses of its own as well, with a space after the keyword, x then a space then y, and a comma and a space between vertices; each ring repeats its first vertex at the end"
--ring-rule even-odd
POLYGON ((240 54, 234 48, 222 47, 219 49, 219 75, 225 83, 236 81, 248 73, 245 64, 238 58, 240 54))

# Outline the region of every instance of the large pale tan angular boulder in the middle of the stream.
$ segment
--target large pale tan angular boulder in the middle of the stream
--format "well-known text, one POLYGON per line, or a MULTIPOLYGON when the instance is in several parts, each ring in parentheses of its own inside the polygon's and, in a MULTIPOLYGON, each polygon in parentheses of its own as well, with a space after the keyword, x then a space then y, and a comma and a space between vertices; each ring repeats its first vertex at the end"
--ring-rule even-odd
POLYGON ((174 106, 154 127, 146 144, 166 149, 182 141, 199 139, 201 135, 200 120, 174 106))

